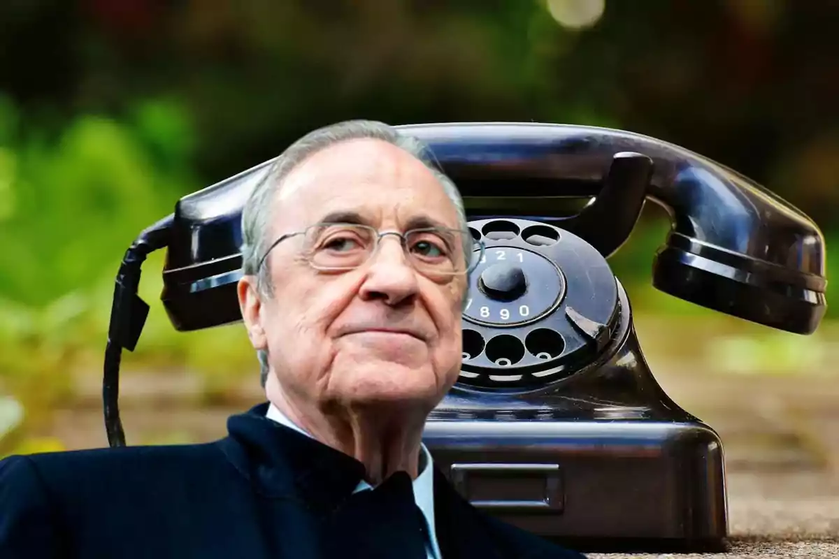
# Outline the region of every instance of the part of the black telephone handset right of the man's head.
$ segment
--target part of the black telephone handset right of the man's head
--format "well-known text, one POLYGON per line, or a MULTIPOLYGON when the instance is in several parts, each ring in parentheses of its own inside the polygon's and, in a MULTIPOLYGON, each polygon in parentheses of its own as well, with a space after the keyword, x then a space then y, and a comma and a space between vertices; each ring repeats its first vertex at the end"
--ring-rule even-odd
POLYGON ((552 197, 593 196, 579 216, 545 222, 575 232, 603 256, 626 240, 643 197, 660 204, 672 229, 656 254, 653 285, 676 298, 798 334, 812 334, 824 316, 825 242, 816 224, 769 190, 697 153, 596 127, 405 128, 429 143, 467 199, 496 200, 493 215, 522 215, 517 201, 532 198, 544 204, 538 215, 550 215, 552 197), (618 167, 621 152, 652 160, 643 194, 642 173, 633 168, 641 163, 628 156, 618 167), (612 169, 618 180, 610 180, 612 169))

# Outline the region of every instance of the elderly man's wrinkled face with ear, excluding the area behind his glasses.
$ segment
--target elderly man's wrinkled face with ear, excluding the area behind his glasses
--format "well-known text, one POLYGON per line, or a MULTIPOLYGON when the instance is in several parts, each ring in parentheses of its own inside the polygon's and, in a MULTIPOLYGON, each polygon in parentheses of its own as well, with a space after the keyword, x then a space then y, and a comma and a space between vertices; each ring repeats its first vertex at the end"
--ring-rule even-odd
MULTIPOLYGON (((417 220, 459 227, 429 169, 373 139, 341 142, 294 168, 274 199, 269 242, 340 214, 379 231, 403 233, 417 220)), ((465 275, 417 272, 396 236, 383 236, 362 267, 318 272, 300 259, 302 242, 271 251, 274 297, 240 290, 251 340, 268 349, 283 391, 321 409, 392 402, 430 411, 460 370, 465 275)))

